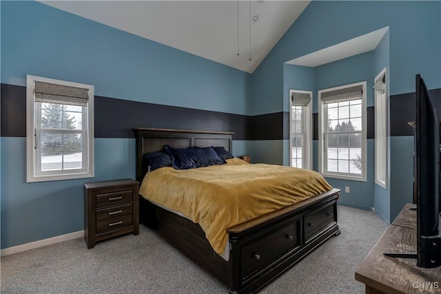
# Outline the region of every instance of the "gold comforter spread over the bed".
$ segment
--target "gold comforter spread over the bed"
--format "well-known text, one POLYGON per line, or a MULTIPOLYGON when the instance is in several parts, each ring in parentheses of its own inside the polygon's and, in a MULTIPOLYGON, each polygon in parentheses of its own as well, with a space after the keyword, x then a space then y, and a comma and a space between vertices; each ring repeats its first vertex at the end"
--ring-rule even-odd
POLYGON ((145 176, 139 193, 198 223, 222 255, 228 227, 331 189, 316 171, 232 158, 226 165, 156 169, 145 176))

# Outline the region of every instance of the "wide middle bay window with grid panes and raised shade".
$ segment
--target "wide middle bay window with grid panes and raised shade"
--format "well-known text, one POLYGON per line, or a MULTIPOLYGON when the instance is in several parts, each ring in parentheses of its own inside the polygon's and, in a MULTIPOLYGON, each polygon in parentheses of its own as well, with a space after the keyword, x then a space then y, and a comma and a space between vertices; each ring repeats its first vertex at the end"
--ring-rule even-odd
POLYGON ((366 181, 366 82, 320 90, 319 169, 329 178, 366 181))

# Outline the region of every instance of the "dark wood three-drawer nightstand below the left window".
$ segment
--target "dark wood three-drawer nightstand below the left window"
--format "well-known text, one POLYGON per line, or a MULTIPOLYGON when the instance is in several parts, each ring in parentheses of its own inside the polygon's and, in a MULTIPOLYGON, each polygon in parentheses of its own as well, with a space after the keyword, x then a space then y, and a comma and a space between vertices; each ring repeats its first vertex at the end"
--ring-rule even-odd
POLYGON ((139 182, 132 179, 84 184, 84 239, 96 242, 125 233, 139 234, 139 182))

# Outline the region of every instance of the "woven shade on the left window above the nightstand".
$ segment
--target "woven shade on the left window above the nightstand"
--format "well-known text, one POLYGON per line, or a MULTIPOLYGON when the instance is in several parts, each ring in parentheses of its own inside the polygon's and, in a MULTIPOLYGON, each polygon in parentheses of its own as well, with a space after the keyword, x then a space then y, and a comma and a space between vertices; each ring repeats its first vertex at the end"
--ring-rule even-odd
POLYGON ((35 81, 35 102, 88 106, 89 90, 35 81))

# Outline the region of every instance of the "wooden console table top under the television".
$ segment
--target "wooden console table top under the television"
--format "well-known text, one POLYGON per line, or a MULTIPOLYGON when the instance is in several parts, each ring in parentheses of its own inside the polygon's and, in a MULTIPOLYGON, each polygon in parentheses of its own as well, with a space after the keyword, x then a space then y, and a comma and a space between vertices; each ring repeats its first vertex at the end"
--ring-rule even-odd
POLYGON ((367 294, 441 293, 441 266, 424 269, 416 266, 416 260, 383 255, 416 252, 416 210, 411 207, 416 205, 404 205, 356 271, 367 294))

